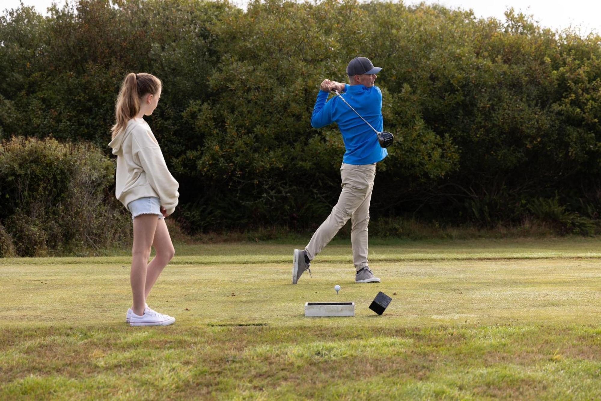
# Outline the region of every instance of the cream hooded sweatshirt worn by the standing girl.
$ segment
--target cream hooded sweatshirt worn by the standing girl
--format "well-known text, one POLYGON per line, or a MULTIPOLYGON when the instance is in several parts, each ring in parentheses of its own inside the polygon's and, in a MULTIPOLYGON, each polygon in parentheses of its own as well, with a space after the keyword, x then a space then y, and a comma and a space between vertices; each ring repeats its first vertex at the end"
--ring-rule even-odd
POLYGON ((129 120, 109 146, 117 155, 117 199, 127 208, 136 199, 156 196, 167 214, 173 213, 180 185, 169 173, 159 143, 144 119, 129 120))

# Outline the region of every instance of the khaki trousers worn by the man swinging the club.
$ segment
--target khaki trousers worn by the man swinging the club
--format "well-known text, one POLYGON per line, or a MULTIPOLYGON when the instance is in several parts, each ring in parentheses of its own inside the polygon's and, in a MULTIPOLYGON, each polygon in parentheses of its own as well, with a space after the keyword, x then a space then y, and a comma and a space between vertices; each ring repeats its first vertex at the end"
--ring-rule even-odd
POLYGON ((319 226, 311 241, 307 244, 307 256, 313 260, 334 235, 349 219, 353 228, 350 232, 350 241, 353 244, 353 263, 357 271, 368 266, 367 225, 370 222, 371 191, 374 187, 376 176, 376 163, 355 164, 343 163, 340 167, 342 178, 342 191, 338 203, 332 208, 332 213, 325 222, 319 226))

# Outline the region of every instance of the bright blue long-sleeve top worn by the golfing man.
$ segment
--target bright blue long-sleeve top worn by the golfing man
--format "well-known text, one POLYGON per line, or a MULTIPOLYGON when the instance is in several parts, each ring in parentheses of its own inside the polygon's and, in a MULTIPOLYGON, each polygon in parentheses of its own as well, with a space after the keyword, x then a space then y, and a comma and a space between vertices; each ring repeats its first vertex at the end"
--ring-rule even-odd
MULTIPOLYGON (((376 132, 338 96, 328 101, 328 95, 329 92, 323 90, 317 94, 311 126, 321 128, 333 122, 338 124, 346 148, 343 163, 371 164, 383 160, 388 152, 380 147, 376 132)), ((382 131, 382 92, 377 86, 346 84, 341 95, 373 128, 382 131)))

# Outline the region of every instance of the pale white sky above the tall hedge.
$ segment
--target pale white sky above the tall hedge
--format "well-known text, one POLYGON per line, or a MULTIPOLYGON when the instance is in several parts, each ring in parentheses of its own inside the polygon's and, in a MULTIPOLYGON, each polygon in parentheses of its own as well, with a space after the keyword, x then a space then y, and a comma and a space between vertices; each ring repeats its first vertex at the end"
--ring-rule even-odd
MULTIPOLYGON (((240 7, 247 0, 233 0, 240 7)), ((581 34, 590 31, 601 33, 601 1, 599 0, 427 0, 428 4, 439 3, 450 8, 471 8, 478 17, 496 17, 504 20, 504 11, 513 7, 516 11, 534 15, 542 26, 562 30, 569 26, 580 26, 581 34)), ((23 0, 25 5, 33 5, 38 12, 46 14, 52 0, 23 0)), ((58 1, 63 4, 64 1, 58 1)), ((405 4, 418 4, 418 0, 407 0, 405 4)), ((19 0, 2 0, 0 10, 19 7, 19 0)))

